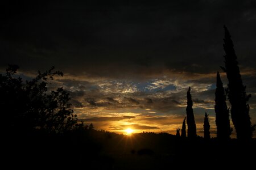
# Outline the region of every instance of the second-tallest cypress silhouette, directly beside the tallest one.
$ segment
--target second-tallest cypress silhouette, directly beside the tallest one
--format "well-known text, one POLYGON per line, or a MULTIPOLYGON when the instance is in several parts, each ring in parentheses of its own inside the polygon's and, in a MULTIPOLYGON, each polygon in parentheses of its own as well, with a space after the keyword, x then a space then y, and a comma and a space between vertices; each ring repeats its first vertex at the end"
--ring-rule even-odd
POLYGON ((226 106, 226 95, 221 82, 220 73, 217 72, 216 91, 215 91, 215 113, 217 138, 229 139, 232 129, 230 128, 229 109, 226 106))

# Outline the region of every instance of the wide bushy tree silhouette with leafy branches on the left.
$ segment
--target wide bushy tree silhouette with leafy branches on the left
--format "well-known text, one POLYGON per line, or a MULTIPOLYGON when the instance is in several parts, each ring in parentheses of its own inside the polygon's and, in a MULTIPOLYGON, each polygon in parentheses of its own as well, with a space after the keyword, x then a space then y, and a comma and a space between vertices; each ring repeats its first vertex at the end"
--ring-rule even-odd
POLYGON ((77 116, 70 108, 69 94, 61 87, 51 92, 47 88, 54 75, 63 76, 63 73, 53 72, 52 67, 45 73, 39 71, 36 78, 23 83, 14 76, 17 69, 18 66, 9 65, 6 75, 0 75, 0 106, 4 108, 5 128, 55 133, 72 129, 77 116))

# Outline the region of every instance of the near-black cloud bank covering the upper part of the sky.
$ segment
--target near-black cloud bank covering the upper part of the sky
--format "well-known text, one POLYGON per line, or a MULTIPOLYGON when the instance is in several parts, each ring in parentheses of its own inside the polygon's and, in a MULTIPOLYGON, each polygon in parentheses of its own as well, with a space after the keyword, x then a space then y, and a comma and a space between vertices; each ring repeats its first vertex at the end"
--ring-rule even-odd
POLYGON ((254 1, 231 0, 5 2, 1 66, 55 65, 98 76, 121 76, 120 70, 139 76, 163 67, 216 71, 223 64, 223 24, 242 64, 254 66, 255 7, 254 1))

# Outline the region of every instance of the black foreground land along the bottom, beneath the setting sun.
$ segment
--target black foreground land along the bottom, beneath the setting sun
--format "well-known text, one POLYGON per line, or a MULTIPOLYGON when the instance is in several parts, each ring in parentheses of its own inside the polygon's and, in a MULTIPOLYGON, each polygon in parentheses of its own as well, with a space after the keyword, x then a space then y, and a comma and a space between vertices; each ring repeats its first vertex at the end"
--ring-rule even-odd
POLYGON ((167 133, 106 131, 12 134, 3 138, 3 166, 33 169, 176 169, 255 167, 256 142, 205 141, 167 133))

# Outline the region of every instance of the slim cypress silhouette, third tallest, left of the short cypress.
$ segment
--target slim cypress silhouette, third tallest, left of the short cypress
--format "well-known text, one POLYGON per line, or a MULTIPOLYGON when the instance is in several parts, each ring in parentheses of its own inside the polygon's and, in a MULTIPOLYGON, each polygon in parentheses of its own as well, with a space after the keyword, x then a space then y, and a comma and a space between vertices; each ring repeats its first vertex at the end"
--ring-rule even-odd
POLYGON ((196 137, 196 123, 195 117, 193 113, 193 101, 190 94, 191 88, 188 88, 187 92, 187 124, 188 124, 188 138, 195 138, 196 137))

